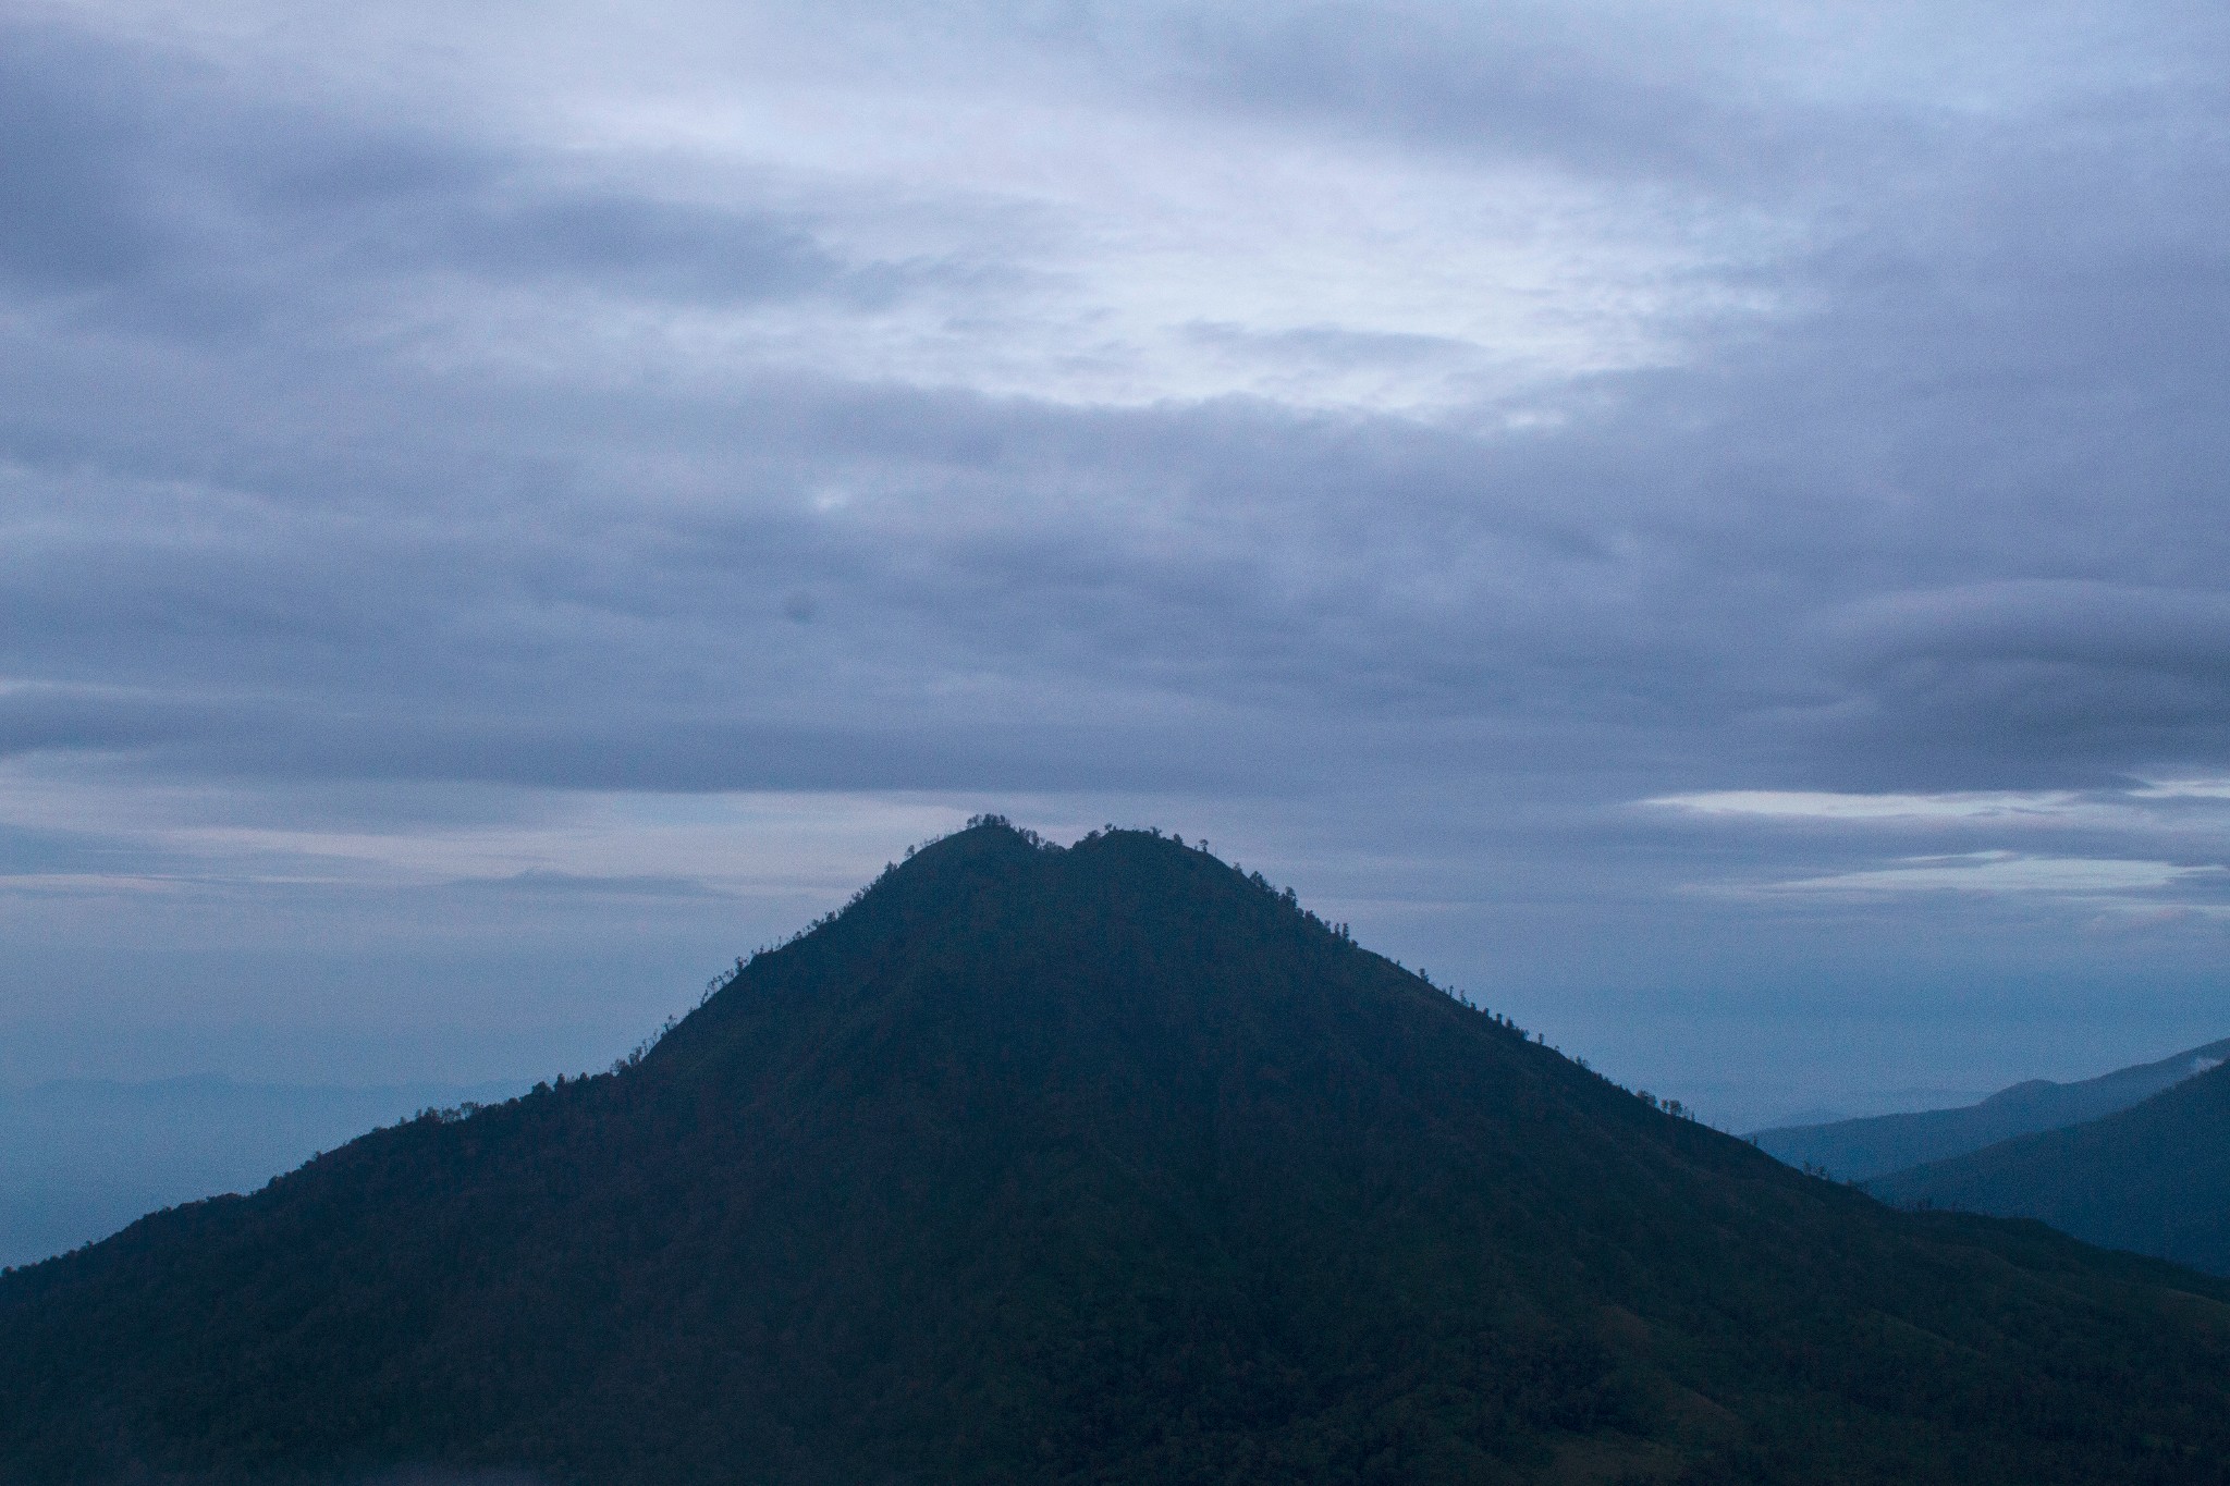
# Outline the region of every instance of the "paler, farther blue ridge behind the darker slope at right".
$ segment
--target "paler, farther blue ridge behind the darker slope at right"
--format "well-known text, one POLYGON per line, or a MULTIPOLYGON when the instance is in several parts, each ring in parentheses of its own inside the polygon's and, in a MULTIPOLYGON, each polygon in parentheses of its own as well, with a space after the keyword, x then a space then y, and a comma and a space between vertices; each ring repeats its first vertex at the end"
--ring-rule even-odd
POLYGON ((1909 1165, 1965 1156, 2011 1136, 2081 1125, 2127 1109, 2165 1087, 2221 1065, 2226 1058, 2230 1058, 2230 1038, 2083 1083, 2029 1078, 1962 1109, 1878 1114, 1829 1125, 1784 1125, 1759 1130, 1751 1141, 1788 1165, 1817 1167, 1840 1181, 1869 1181, 1909 1165))

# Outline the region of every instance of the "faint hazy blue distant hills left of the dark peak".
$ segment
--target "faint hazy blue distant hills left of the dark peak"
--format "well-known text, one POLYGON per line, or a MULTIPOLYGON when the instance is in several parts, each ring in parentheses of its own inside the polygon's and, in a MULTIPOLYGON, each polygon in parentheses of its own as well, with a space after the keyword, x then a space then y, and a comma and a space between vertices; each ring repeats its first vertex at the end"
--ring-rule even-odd
POLYGON ((317 1152, 419 1109, 493 1103, 517 1089, 221 1076, 0 1089, 0 1265, 105 1239, 156 1208, 254 1192, 317 1152))

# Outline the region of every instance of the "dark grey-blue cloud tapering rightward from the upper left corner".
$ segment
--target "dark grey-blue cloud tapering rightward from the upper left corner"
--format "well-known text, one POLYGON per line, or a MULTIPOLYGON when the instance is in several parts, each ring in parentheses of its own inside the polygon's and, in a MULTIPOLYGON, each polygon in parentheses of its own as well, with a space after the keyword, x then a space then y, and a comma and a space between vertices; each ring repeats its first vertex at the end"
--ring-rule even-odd
POLYGON ((0 274, 80 323, 359 334, 406 285, 888 305, 950 265, 847 261, 789 209, 571 178, 515 143, 319 111, 207 65, 16 22, 0 62, 0 274))

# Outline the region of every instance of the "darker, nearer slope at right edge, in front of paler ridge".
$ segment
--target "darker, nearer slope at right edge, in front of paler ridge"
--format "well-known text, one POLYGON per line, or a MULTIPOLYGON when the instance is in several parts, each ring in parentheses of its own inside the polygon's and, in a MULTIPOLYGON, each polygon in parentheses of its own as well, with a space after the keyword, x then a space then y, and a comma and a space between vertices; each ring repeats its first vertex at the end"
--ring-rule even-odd
POLYGON ((1882 1201, 2043 1219, 2230 1274, 2230 1065, 2101 1121, 1867 1183, 1882 1201))

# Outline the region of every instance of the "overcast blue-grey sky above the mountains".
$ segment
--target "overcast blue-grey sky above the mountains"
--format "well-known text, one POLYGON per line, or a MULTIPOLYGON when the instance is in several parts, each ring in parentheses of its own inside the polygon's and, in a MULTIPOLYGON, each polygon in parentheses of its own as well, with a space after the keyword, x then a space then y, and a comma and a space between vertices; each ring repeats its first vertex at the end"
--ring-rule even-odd
POLYGON ((2230 1034, 2219 4, 0 0, 0 1083, 1157 824, 1751 1127, 2230 1034))

